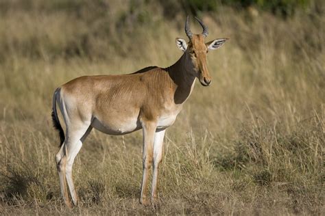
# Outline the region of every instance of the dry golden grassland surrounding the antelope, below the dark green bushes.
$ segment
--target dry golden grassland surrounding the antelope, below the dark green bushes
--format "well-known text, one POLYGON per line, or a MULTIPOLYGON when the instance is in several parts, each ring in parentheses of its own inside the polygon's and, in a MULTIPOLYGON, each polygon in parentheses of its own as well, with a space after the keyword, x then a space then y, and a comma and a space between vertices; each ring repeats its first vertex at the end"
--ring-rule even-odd
POLYGON ((0 1, 0 213, 324 214, 324 5, 287 17, 197 12, 207 41, 231 39, 208 54, 212 85, 196 83, 167 130, 160 204, 138 202, 141 131, 94 130, 75 160, 81 202, 70 210, 54 159, 53 91, 82 75, 173 64, 189 11, 173 1, 0 1))

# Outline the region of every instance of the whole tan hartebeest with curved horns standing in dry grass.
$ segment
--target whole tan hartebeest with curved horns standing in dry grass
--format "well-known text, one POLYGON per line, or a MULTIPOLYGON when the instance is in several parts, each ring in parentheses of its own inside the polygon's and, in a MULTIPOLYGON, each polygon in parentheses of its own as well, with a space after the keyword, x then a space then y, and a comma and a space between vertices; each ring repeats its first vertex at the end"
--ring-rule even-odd
POLYGON ((156 200, 165 130, 175 122, 183 103, 193 90, 195 79, 198 78, 204 86, 210 85, 206 54, 227 40, 221 38, 204 43, 208 28, 198 18, 196 20, 203 28, 202 33, 191 32, 187 17, 185 32, 189 42, 176 38, 178 48, 184 53, 168 68, 147 67, 128 75, 79 77, 56 89, 52 119, 61 140, 56 165, 61 193, 68 206, 71 203, 67 184, 73 204, 78 201, 72 180, 73 161, 93 128, 110 135, 123 135, 143 129, 140 202, 147 203, 147 180, 152 165, 152 202, 156 200), (65 138, 56 103, 67 126, 65 138))

